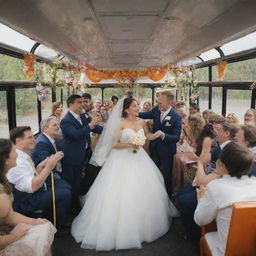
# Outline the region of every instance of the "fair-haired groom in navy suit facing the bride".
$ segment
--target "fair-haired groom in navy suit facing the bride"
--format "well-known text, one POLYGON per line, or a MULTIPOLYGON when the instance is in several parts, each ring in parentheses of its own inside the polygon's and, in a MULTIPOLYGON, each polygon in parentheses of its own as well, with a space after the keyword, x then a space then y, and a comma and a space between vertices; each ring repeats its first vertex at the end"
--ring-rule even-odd
POLYGON ((169 90, 159 92, 158 106, 149 112, 139 113, 143 119, 153 119, 152 133, 156 139, 150 141, 150 157, 160 169, 164 177, 165 187, 171 195, 172 163, 176 153, 176 143, 181 133, 181 117, 172 108, 174 95, 169 90))

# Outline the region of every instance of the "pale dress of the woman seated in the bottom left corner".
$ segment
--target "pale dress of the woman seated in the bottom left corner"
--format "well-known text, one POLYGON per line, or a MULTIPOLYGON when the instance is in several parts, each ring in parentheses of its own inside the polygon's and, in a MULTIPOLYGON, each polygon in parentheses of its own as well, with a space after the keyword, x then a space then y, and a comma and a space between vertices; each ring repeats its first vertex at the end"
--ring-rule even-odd
MULTIPOLYGON (((4 188, 0 184, 0 194, 4 193, 4 188)), ((13 200, 11 195, 10 200, 13 200)), ((0 256, 44 256, 47 253, 54 239, 55 227, 50 222, 29 226, 25 236, 0 250, 0 256)), ((0 239, 1 235, 7 235, 11 230, 12 228, 5 226, 0 219, 0 239)))

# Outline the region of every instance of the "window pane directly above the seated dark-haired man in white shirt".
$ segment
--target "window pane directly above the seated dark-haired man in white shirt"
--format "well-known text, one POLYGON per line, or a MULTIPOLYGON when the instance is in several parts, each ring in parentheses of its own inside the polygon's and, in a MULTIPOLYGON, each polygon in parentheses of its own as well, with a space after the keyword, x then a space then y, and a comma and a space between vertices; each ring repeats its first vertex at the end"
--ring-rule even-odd
POLYGON ((36 89, 16 89, 15 97, 17 126, 30 126, 33 133, 38 132, 36 89))

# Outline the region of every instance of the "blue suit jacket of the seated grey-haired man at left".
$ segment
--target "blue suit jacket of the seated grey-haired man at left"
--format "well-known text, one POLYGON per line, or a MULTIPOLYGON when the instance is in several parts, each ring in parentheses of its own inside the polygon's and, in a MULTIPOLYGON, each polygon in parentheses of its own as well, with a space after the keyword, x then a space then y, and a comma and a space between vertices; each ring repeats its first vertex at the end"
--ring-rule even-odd
POLYGON ((30 155, 35 165, 38 165, 45 158, 55 153, 56 150, 51 141, 43 133, 40 133, 35 141, 35 147, 30 152, 30 155))

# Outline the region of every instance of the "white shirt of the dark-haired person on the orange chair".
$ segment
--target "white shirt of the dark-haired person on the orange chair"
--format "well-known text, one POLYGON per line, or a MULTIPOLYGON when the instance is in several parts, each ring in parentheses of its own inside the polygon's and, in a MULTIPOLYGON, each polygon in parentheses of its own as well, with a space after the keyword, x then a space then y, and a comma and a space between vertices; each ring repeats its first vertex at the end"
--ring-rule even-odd
POLYGON ((205 236, 213 256, 225 254, 233 203, 255 200, 256 177, 244 175, 238 179, 224 175, 206 186, 205 195, 198 201, 194 220, 199 226, 204 226, 216 219, 218 231, 205 236))

